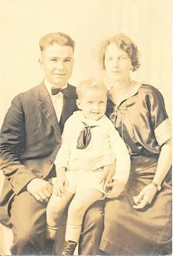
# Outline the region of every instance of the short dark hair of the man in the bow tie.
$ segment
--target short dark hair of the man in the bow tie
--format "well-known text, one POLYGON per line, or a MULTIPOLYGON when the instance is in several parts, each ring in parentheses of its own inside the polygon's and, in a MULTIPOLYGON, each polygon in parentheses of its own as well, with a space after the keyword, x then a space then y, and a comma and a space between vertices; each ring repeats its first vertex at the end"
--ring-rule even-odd
POLYGON ((40 50, 41 52, 46 49, 47 46, 51 46, 52 44, 59 44, 60 46, 70 46, 72 49, 75 49, 75 41, 68 36, 68 34, 57 32, 46 34, 40 39, 40 50))

